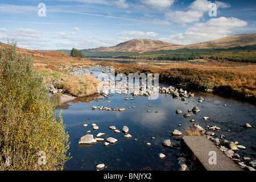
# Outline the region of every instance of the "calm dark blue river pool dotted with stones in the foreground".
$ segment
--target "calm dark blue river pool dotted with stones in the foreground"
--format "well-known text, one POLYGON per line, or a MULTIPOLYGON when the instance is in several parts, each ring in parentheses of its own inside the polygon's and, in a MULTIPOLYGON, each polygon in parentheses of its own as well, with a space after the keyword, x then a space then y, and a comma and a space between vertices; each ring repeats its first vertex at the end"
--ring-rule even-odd
MULTIPOLYGON (((185 101, 172 98, 170 95, 159 94, 157 100, 148 100, 148 97, 133 97, 131 95, 110 94, 103 100, 91 102, 69 102, 68 109, 63 110, 63 119, 66 131, 69 134, 72 159, 65 163, 65 170, 96 170, 97 164, 104 163, 103 170, 171 170, 179 169, 175 155, 180 152, 180 147, 165 148, 162 141, 170 139, 172 143, 179 143, 181 137, 172 137, 174 129, 180 130, 184 134, 185 127, 191 126, 190 119, 195 119, 195 123, 204 127, 216 125, 220 131, 214 131, 217 138, 223 134, 229 141, 238 141, 247 147, 247 150, 238 150, 239 155, 250 156, 251 146, 255 145, 255 129, 245 129, 244 123, 255 126, 256 107, 244 102, 231 100, 228 98, 214 96, 212 94, 195 93, 194 98, 187 98, 185 101), (204 102, 197 102, 203 96, 204 102), (124 100, 124 98, 134 98, 134 100, 124 100), (172 99, 172 100, 170 100, 172 99), (110 103, 108 101, 111 101, 110 103), (227 106, 224 106, 224 105, 227 106), (112 108, 123 108, 125 111, 92 110, 92 106, 107 106, 112 108), (149 107, 148 105, 151 105, 149 107), (135 108, 133 108, 135 106, 135 108), (198 106, 200 113, 184 118, 183 114, 188 109, 198 106), (131 109, 128 109, 131 107, 131 109), (183 114, 176 114, 176 109, 181 109, 183 114), (148 113, 147 111, 150 110, 148 113), (158 111, 158 113, 155 113, 158 111), (209 117, 204 120, 203 117, 209 117), (87 127, 82 125, 88 124, 87 127), (98 130, 93 131, 92 123, 96 123, 98 130), (181 124, 181 126, 178 126, 181 124), (114 125, 121 133, 114 133, 109 126, 114 125), (122 127, 129 127, 129 134, 133 137, 124 138, 122 127), (91 146, 81 146, 78 144, 80 138, 86 131, 93 134, 94 138, 98 133, 106 133, 101 138, 113 137, 118 140, 115 144, 104 146, 103 142, 98 142, 91 146), (230 130, 230 131, 228 131, 230 130), (151 139, 155 137, 155 139, 151 139), (134 139, 137 140, 134 140, 134 139), (151 146, 147 146, 147 142, 151 146), (163 153, 165 159, 159 159, 158 154, 163 153)), ((60 109, 58 109, 60 111, 60 109)))

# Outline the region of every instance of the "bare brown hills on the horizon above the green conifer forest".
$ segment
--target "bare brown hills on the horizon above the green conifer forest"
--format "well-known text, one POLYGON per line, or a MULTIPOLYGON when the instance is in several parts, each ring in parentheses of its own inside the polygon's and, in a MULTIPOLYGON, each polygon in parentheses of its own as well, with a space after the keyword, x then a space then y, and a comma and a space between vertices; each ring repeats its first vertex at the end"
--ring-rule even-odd
POLYGON ((94 49, 82 49, 82 52, 115 51, 115 52, 151 52, 160 50, 180 49, 180 48, 229 48, 236 46, 248 46, 256 44, 256 34, 238 34, 225 38, 210 40, 196 44, 179 45, 160 40, 133 39, 117 44, 113 47, 99 47, 94 49))

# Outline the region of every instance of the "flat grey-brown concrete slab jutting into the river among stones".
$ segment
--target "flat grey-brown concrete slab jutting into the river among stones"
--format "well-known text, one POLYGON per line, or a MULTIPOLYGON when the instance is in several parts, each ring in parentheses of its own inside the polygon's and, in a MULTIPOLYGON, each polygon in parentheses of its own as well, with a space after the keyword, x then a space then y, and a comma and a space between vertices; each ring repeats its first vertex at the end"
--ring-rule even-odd
POLYGON ((243 171, 204 136, 184 136, 181 138, 181 147, 192 157, 199 170, 243 171))

